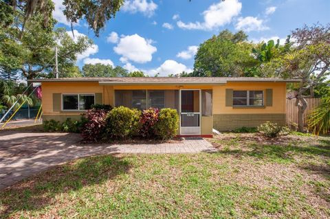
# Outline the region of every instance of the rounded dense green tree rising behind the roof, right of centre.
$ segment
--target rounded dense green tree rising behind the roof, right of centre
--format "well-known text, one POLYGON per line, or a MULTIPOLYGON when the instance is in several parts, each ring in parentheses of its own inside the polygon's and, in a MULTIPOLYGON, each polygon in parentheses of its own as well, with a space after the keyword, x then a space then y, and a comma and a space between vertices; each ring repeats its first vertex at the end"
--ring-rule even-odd
POLYGON ((252 43, 243 31, 223 30, 199 45, 192 76, 237 77, 258 63, 251 56, 252 43))

